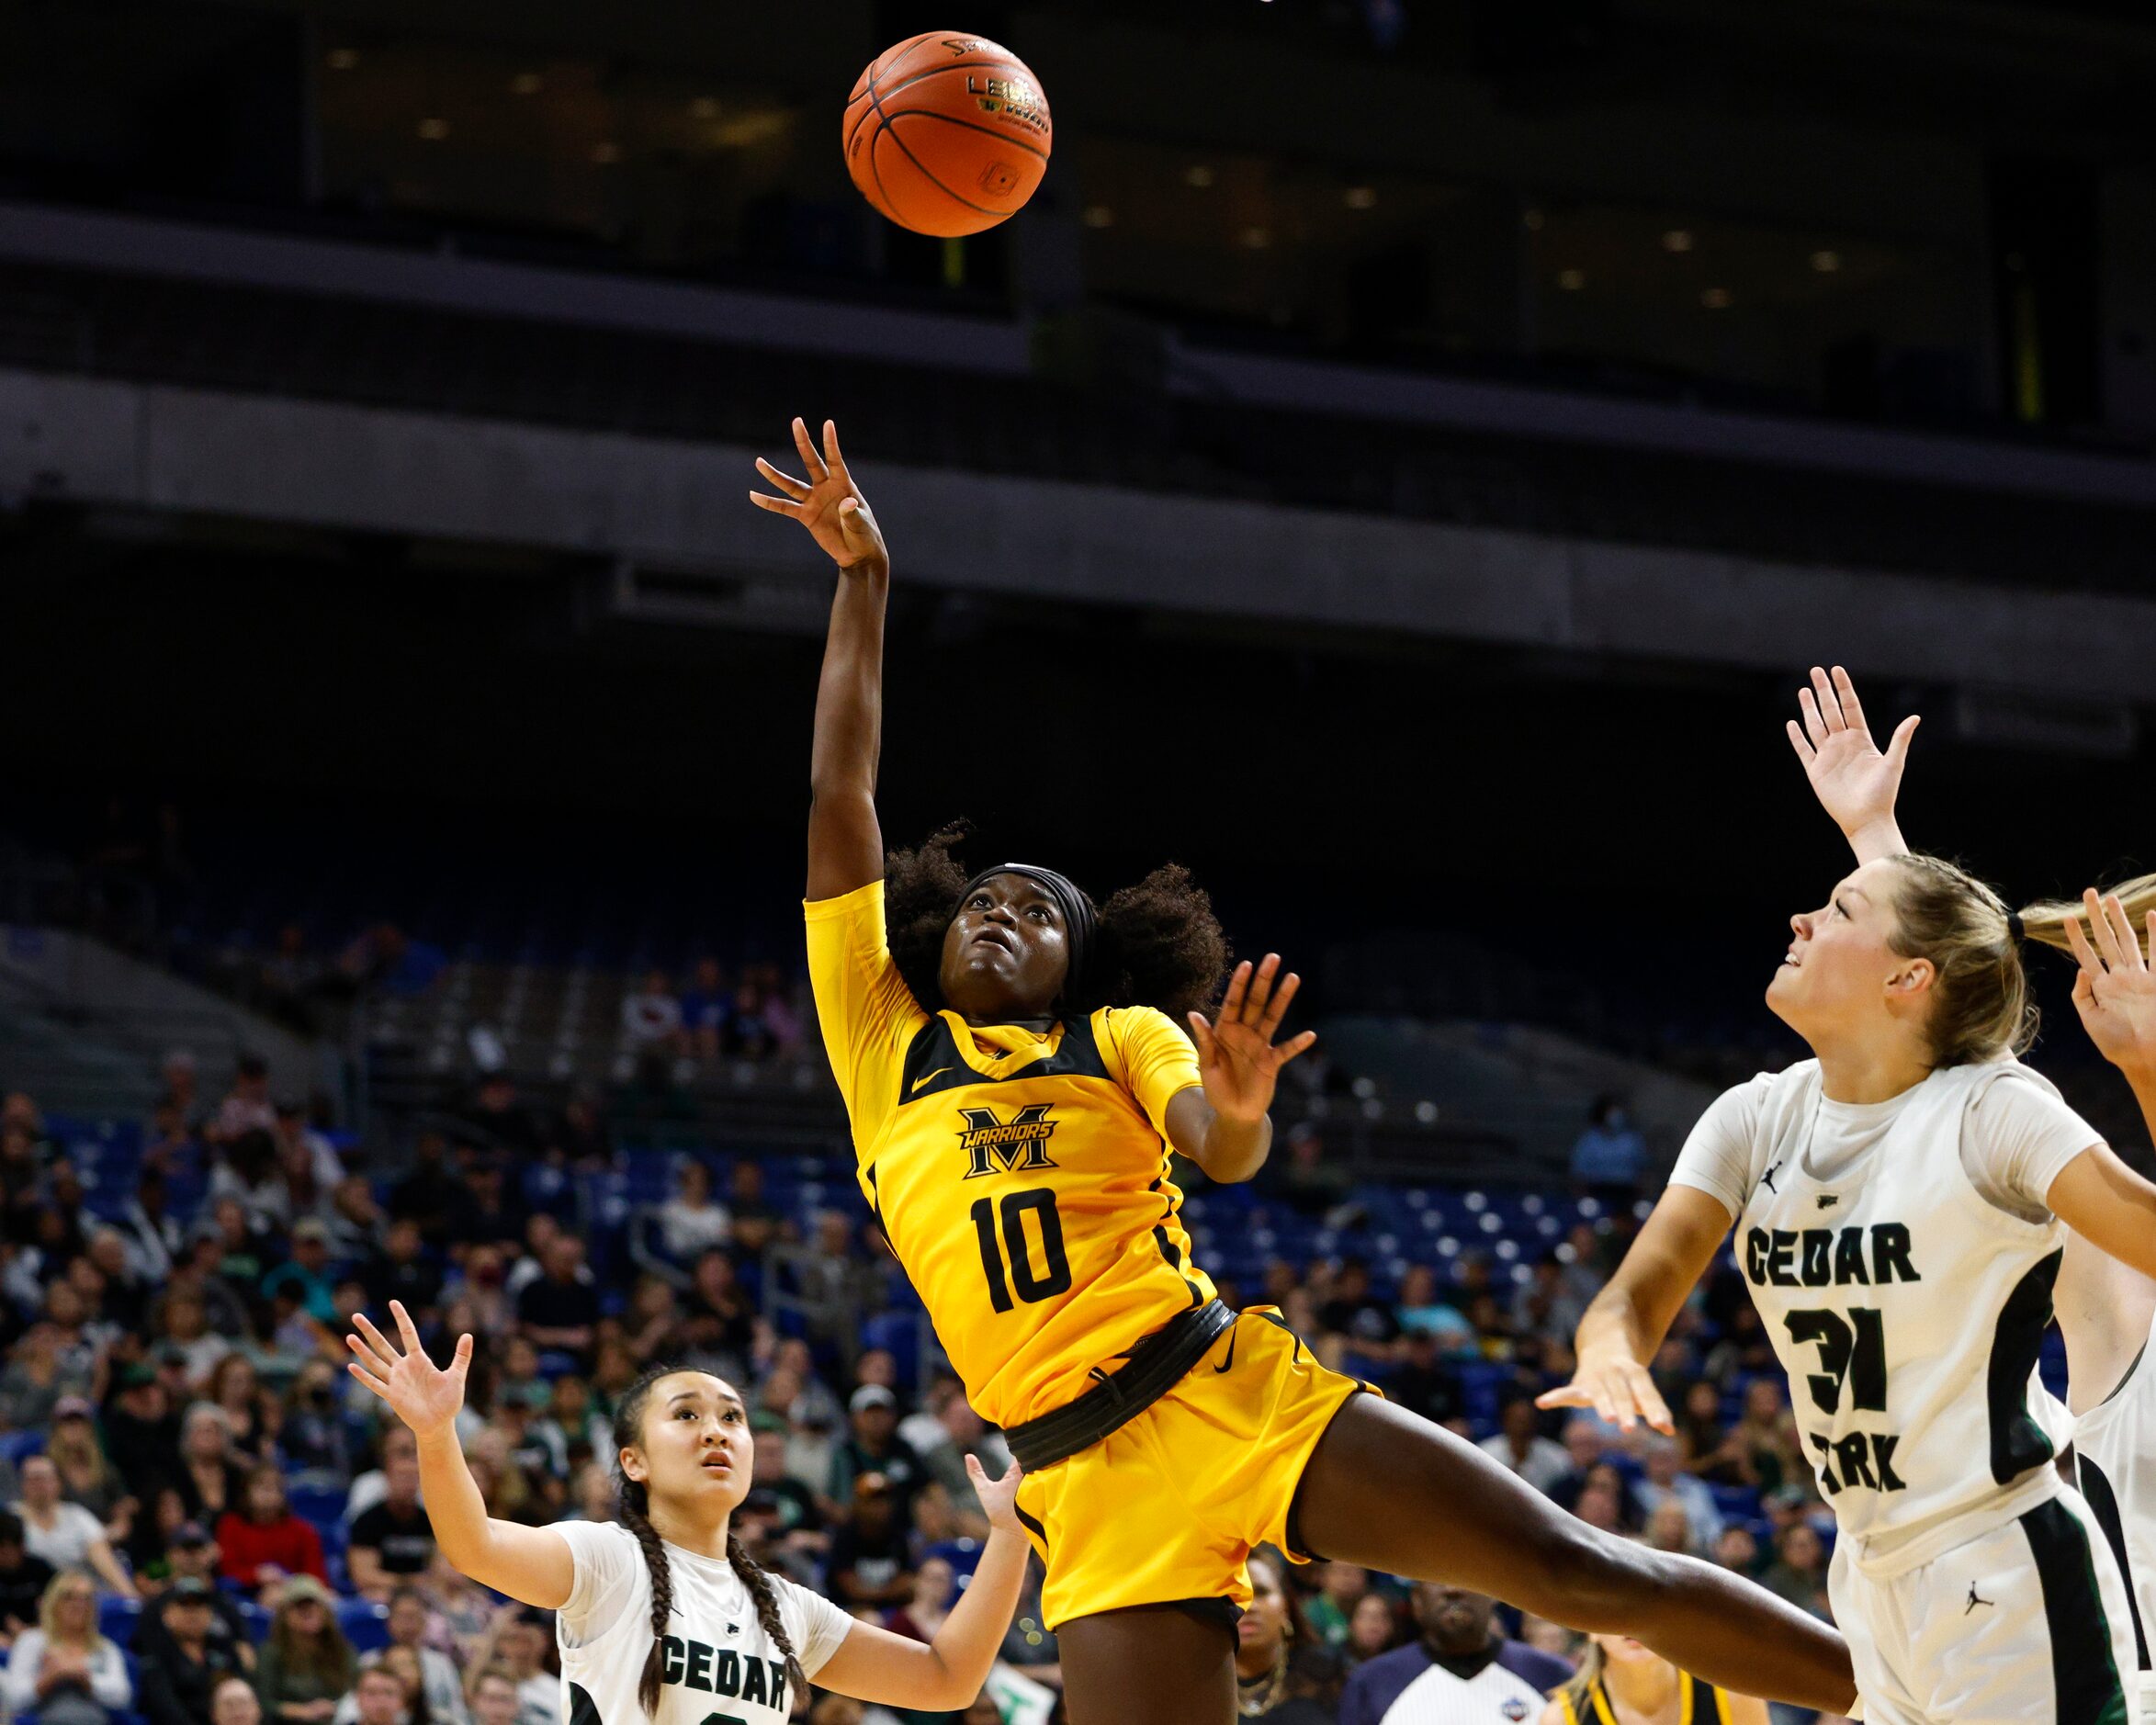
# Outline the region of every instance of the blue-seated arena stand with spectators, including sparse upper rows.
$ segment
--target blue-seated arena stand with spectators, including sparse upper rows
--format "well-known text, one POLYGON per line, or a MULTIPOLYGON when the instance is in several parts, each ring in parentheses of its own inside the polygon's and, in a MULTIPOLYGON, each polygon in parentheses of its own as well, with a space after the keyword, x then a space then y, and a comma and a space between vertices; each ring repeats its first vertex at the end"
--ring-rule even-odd
MULTIPOLYGON (((349 962, 364 988, 330 996, 334 1009, 369 1037, 401 1024, 433 1054, 410 1110, 377 1108, 367 1134, 338 1130, 278 1098, 257 1063, 237 1061, 226 1078, 185 1057, 138 1074, 160 1091, 147 1115, 45 1113, 24 1093, 4 1110, 0 1486, 22 1503, 26 1464, 54 1464, 63 1507, 101 1531, 114 1574, 140 1596, 108 1585, 97 1604, 101 1634, 136 1658, 134 1706, 108 1708, 108 1725, 177 1725, 170 1675, 157 1667, 144 1682, 138 1654, 164 1634, 179 1583, 216 1596, 235 1647, 261 1645, 285 1606, 304 1615, 293 1587, 306 1583, 261 1565, 259 1548, 287 1542, 302 1552, 300 1574, 319 1563, 351 1671, 425 1641, 451 1662, 461 1701, 494 1673, 535 1710, 522 1725, 548 1725, 537 1716, 550 1695, 543 1626, 502 1615, 431 1561, 410 1443, 341 1371, 341 1313, 390 1296, 414 1309, 431 1348, 459 1330, 483 1339, 466 1447, 496 1514, 612 1514, 612 1395, 645 1361, 688 1356, 752 1391, 761 1484, 744 1535, 759 1557, 893 1624, 936 1622, 979 1540, 959 1455, 1000 1464, 1000 1438, 964 1406, 880 1246, 808 1013, 776 1031, 765 1013, 763 1039, 748 1044, 733 1039, 740 972, 718 960, 653 970, 640 962, 649 951, 617 944, 606 964, 520 968, 476 942, 414 960, 425 942, 390 938, 379 921, 343 949, 317 949, 300 925, 261 925, 278 938, 216 944, 220 981, 257 1003, 285 990, 287 1007, 313 1009, 310 985, 349 962), (509 1011, 517 988, 530 1003, 522 1013, 509 1011), (591 1063, 571 1063, 563 1080, 543 1061, 561 1048, 550 1029, 576 990, 586 994, 576 1046, 591 1063), (481 1029, 505 1065, 474 1072, 481 1029), (668 1115, 638 1085, 653 1063, 668 1085, 688 1072, 733 1087, 668 1115), (796 1082, 821 1113, 770 1126, 759 1095, 796 1082), (257 1473, 265 1462, 267 1477, 257 1473), (276 1481, 289 1516, 276 1514, 276 1481), (420 1624, 403 1643, 399 1609, 420 1624)), ((1350 981, 1373 975, 1352 953, 1335 968, 1350 981)), ((1416 975, 1427 990, 1436 970, 1416 975)), ((1453 1005, 1559 994, 1533 977, 1503 985, 1496 966, 1473 962, 1455 964, 1445 988, 1453 1005), (1488 992, 1501 988, 1511 992, 1488 992)), ((1539 1414, 1533 1395, 1570 1376, 1572 1328, 1645 1195, 1600 1164, 1595 1179, 1565 1186, 1563 1158, 1537 1182, 1533 1164, 1488 1147, 1466 1158, 1477 1177, 1371 1177, 1384 1164, 1358 1134, 1386 1110, 1412 1117, 1404 1098, 1470 1115, 1488 1110, 1477 1087, 1503 1093, 1507 1074, 1589 1095, 1615 1057, 1552 1037, 1475 1020, 1339 1020, 1328 1039, 1345 1067, 1283 1095, 1291 1123, 1259 1179, 1212 1186, 1186 1171, 1197 1259, 1227 1298, 1279 1305, 1324 1358, 1481 1443, 1574 1514, 1824 1609, 1830 1522, 1733 1261, 1656 1361, 1680 1436, 1619 1438, 1587 1417, 1539 1414), (1496 1182, 1496 1169, 1524 1184, 1496 1182)), ((1585 1102, 1548 1121, 1561 1149, 1583 1128, 1585 1102)), ((1421 1164, 1438 1167, 1427 1154, 1421 1164)), ((2046 1369, 2057 1386, 2055 1350, 2046 1369)), ((37 1552, 11 1568, 4 1533, 0 1522, 0 1593, 28 1598, 37 1552)), ((30 1546, 50 1537, 30 1529, 30 1546)), ((1412 1639, 1410 1589, 1395 1578, 1322 1565, 1289 1572, 1289 1589, 1332 1654, 1319 1662, 1332 1688, 1412 1639)), ((1054 1639, 1037 1600, 1031 1611, 1005 1656, 1052 1684, 1054 1639)), ((1554 1626, 1514 1628, 1570 1652, 1554 1626)), ((190 1671, 177 1688, 196 1699, 181 1706, 211 1725, 190 1671)), ((349 1714, 349 1673, 338 1682, 319 1699, 349 1714)))

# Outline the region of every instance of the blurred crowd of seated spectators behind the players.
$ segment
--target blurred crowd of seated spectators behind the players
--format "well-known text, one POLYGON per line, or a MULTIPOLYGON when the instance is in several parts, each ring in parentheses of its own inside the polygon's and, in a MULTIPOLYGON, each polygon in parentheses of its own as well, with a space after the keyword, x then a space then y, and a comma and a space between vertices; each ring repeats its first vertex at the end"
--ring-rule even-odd
MULTIPOLYGON (((666 1035, 727 1022, 699 1007, 666 1035)), ((541 1110, 492 1078, 395 1169, 371 1169, 274 1098, 259 1063, 209 1100, 172 1061, 132 1190, 95 1205, 30 1098, 6 1098, 0 1132, 0 1701, 15 1716, 565 1725, 548 1617, 438 1557, 410 1434, 343 1371, 343 1313, 390 1298, 438 1356, 476 1337, 459 1427, 496 1516, 610 1518, 612 1408, 647 1363, 681 1361, 748 1399, 757 1484, 735 1529, 761 1563, 921 1639, 970 1576, 985 1520, 966 1455, 998 1473, 1000 1434, 931 1361, 858 1346, 858 1328, 774 1322, 774 1276, 793 1276, 800 1309, 867 1313, 897 1298, 895 1266, 865 1210, 789 1214, 755 1158, 681 1158, 602 1285, 569 1188, 530 1177, 610 1167, 593 1098, 541 1110), (808 1251, 772 1251, 787 1244, 808 1251)), ((1311 1134, 1257 1188, 1302 1210, 1339 1197, 1311 1134)), ((1322 1358, 1572 1514, 1824 1613, 1822 1509, 1733 1272, 1708 1281, 1654 1363, 1675 1438, 1533 1406, 1570 1376, 1621 1220, 1578 1225, 1524 1281, 1475 1253, 1397 1283, 1354 1257, 1276 1259, 1261 1287, 1222 1296, 1279 1305, 1322 1358), (1492 1380, 1496 1419, 1477 1419, 1492 1380)), ((1358 1671, 1427 1662, 1440 1643, 1473 1662, 1462 1634, 1511 1645, 1488 1602, 1345 1563, 1268 1559, 1257 1578, 1238 1665, 1266 1706, 1248 1716, 1376 1725, 1391 1680, 1358 1671), (1462 1611, 1479 1628, 1462 1630, 1462 1611)), ((1035 1565, 992 1682, 1005 1721, 1056 1706, 1037 1589, 1035 1565)), ((1546 1660, 1576 1652, 1550 1624, 1516 1628, 1546 1660)), ((802 1699, 821 1725, 888 1725, 802 1699)))

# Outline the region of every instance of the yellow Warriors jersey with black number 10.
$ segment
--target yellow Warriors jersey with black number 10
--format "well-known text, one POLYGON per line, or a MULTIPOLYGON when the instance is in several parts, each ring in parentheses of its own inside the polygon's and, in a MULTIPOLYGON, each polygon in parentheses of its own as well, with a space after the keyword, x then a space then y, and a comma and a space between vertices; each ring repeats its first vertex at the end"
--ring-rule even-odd
POLYGON ((970 1026, 908 992, 882 882, 804 914, 860 1190, 983 1419, 1061 1408, 1214 1296, 1169 1179, 1166 1108, 1197 1052, 1164 1013, 970 1026))

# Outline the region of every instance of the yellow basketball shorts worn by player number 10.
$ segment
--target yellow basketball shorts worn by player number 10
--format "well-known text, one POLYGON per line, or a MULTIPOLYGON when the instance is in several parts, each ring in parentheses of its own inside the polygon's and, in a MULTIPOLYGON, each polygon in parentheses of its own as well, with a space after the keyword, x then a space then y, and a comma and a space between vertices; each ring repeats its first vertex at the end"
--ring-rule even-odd
POLYGON ((1287 1512, 1358 1389, 1276 1307, 1250 1307, 1181 1382, 1091 1449, 1028 1473, 1018 1518, 1048 1565, 1048 1628, 1132 1604, 1250 1602, 1250 1550, 1289 1548, 1287 1512))

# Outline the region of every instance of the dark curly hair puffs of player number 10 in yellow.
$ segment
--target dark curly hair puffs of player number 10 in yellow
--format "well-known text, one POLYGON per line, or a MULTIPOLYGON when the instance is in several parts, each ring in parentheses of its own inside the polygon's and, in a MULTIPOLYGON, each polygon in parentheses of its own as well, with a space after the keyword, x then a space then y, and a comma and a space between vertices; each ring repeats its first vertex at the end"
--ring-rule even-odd
MULTIPOLYGON (((884 925, 899 977, 925 1011, 942 1007, 942 942, 972 875, 957 860, 966 824, 931 832, 916 850, 884 858, 884 925)), ((1210 1013, 1235 955, 1205 888, 1179 862, 1153 869, 1100 906, 1097 951, 1084 998, 1063 1009, 1158 1007, 1177 1029, 1210 1013)))

